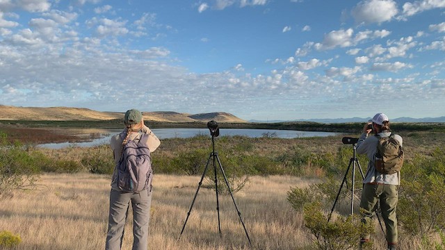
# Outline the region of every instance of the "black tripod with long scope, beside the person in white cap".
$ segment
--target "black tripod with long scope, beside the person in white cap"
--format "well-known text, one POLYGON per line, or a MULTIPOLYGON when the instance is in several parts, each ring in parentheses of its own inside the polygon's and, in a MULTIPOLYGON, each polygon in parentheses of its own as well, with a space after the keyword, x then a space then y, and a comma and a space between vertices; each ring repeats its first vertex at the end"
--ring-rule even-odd
MULTIPOLYGON (((364 179, 364 174, 363 174, 363 170, 362 167, 360 167, 360 163, 359 163, 359 159, 357 158, 357 153, 356 153, 356 149, 357 149, 357 141, 358 138, 348 138, 348 137, 344 137, 342 140, 343 144, 353 144, 353 157, 350 158, 349 160, 349 165, 348 165, 348 169, 346 169, 346 173, 345 176, 343 177, 343 182, 340 185, 340 189, 339 192, 337 193, 337 197, 335 198, 334 201, 334 206, 332 206, 331 209, 331 213, 329 214, 329 217, 327 218, 327 222, 330 221, 332 213, 334 212, 334 208, 335 208, 335 204, 337 203, 340 193, 341 193, 341 188, 343 188, 343 184, 346 183, 346 185, 348 185, 347 181, 346 181, 346 177, 348 176, 348 172, 350 169, 350 166, 353 165, 353 180, 352 180, 352 187, 351 187, 351 197, 350 197, 350 215, 353 215, 354 213, 354 191, 355 191, 355 166, 357 165, 360 171, 360 174, 362 174, 362 180, 364 179)), ((378 223, 380 224, 380 228, 382 228, 382 232, 385 233, 385 231, 383 230, 383 226, 382 226, 382 222, 380 221, 380 217, 378 216, 378 211, 375 212, 375 215, 377 215, 377 219, 378 219, 378 223)))

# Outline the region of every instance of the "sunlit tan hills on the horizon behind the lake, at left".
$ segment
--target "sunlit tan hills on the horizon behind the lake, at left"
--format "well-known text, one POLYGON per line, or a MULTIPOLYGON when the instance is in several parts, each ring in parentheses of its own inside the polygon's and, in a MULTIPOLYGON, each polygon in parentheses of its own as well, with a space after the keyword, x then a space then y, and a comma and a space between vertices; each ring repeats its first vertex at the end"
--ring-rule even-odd
MULTIPOLYGON (((206 113, 191 115, 168 111, 144 112, 146 121, 154 122, 246 122, 229 113, 206 113)), ((124 113, 100 112, 88 108, 67 107, 15 107, 0 105, 0 120, 31 120, 31 121, 98 121, 123 119, 124 113)))

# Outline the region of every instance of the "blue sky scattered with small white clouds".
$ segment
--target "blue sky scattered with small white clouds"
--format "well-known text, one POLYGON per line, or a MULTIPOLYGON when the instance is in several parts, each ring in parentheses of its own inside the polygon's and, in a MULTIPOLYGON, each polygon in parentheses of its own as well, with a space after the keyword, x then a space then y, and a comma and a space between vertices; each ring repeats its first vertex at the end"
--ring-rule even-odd
POLYGON ((0 0, 0 105, 445 116, 445 0, 0 0))

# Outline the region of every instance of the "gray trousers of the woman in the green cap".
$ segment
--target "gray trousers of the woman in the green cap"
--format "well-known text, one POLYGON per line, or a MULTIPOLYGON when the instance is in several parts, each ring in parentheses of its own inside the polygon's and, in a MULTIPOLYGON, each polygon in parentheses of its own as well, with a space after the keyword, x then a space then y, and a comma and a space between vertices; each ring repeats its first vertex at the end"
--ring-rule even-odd
POLYGON ((108 233, 106 233, 106 250, 120 250, 124 238, 124 226, 127 220, 129 203, 133 208, 133 250, 147 250, 148 223, 152 192, 143 190, 139 193, 111 190, 110 213, 108 215, 108 233))

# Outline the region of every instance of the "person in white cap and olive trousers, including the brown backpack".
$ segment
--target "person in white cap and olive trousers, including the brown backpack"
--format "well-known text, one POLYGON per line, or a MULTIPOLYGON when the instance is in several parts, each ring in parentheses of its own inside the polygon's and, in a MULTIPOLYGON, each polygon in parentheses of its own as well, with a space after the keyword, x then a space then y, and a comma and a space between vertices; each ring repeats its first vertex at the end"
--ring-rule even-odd
MULTIPOLYGON (((380 202, 388 249, 396 249, 398 242, 396 208, 398 185, 401 183, 400 169, 403 164, 402 143, 400 135, 391 133, 389 119, 383 113, 376 114, 365 124, 357 141, 357 153, 366 153, 369 158, 360 202, 362 222, 371 222, 380 202), (369 136, 371 132, 373 136, 369 136)), ((363 235, 360 246, 369 242, 370 237, 371 235, 363 235)))

